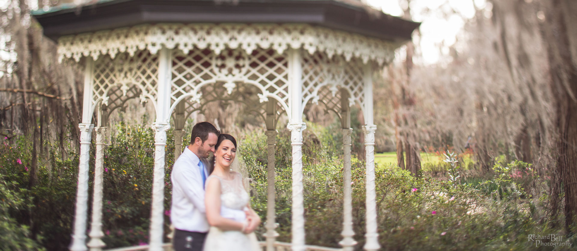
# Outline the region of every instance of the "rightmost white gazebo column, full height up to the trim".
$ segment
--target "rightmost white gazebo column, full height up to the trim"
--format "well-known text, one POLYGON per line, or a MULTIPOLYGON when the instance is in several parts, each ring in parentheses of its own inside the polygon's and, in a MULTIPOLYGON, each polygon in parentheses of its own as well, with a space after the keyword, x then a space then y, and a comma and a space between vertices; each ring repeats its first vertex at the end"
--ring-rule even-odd
POLYGON ((366 243, 363 248, 372 251, 381 248, 379 233, 377 232, 377 203, 374 186, 374 132, 377 130, 377 126, 373 125, 373 72, 370 64, 365 65, 364 70, 365 126, 362 129, 365 133, 366 152, 366 243))

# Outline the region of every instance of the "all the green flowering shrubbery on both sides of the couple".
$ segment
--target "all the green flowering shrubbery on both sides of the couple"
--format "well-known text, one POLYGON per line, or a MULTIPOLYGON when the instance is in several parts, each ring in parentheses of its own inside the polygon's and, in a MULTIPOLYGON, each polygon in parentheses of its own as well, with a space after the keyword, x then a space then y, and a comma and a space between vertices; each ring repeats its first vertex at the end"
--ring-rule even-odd
MULTIPOLYGON (((153 131, 143 126, 120 124, 114 129, 104 158, 103 241, 107 248, 147 242, 153 168, 153 131)), ((343 175, 340 133, 308 123, 303 151, 306 243, 338 247, 342 239, 343 175)), ((168 132, 168 138, 172 138, 168 132)), ((290 132, 279 131, 276 144, 276 229, 279 241, 291 241, 291 145, 290 132)), ((27 138, 15 138, 13 148, 3 145, 0 194, 16 194, 23 201, 8 211, 8 231, 26 237, 32 249, 39 243, 48 250, 65 250, 70 243, 78 160, 76 153, 62 159, 57 152, 39 167, 39 183, 27 188, 31 148, 27 138), (6 190, 8 189, 8 190, 6 190), (24 199, 25 198, 25 199, 24 199)), ((173 142, 167 143, 166 201, 170 208, 170 167, 173 142)), ((52 148, 50 148, 52 149, 52 148)), ((57 148, 55 148, 57 149, 57 148)), ((252 206, 263 218, 267 209, 267 143, 263 133, 239 137, 239 153, 248 168, 252 206)), ((94 151, 95 149, 91 149, 94 151)), ((92 152, 93 156, 93 152, 92 152)), ((93 166, 93 159, 91 159, 93 166)), ((364 245, 365 166, 351 160, 353 181, 353 227, 356 250, 364 245)), ((527 234, 558 234, 556 228, 540 224, 536 208, 546 197, 524 199, 524 182, 535 177, 529 164, 515 162, 495 166, 495 177, 459 184, 427 177, 414 177, 399 168, 378 167, 376 171, 379 240, 386 250, 520 250, 529 249, 527 234), (518 172, 521 173, 518 173, 518 172), (518 177, 520 175, 520 177, 518 177), (516 190, 511 190, 512 184, 516 190)), ((91 171, 92 174, 92 171, 91 171)), ((91 175, 92 176, 92 175, 91 175)), ((90 187, 92 188, 92 180, 90 187)), ((16 199, 20 198, 20 199, 16 199)), ((90 201, 89 201, 90 203, 90 201)), ((14 204, 16 205, 16 204, 14 204)), ((5 204, 2 204, 4 210, 5 204)), ((166 212, 168 214, 168 210, 166 212)), ((170 220, 165 217, 165 233, 170 220)), ((6 224, 6 223, 3 223, 6 224)), ((4 225, 2 225, 4 226, 4 225)), ((264 226, 257 230, 260 239, 264 226)), ((166 240, 167 241, 167 240, 166 240)), ((546 250, 546 248, 543 248, 546 250)))

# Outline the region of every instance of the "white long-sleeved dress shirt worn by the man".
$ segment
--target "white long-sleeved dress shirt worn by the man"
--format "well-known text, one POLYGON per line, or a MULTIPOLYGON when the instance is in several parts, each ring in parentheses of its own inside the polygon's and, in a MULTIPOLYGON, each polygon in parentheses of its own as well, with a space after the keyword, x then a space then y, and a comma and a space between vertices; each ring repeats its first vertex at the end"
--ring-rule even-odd
MULTIPOLYGON (((188 149, 188 146, 174 163, 170 177, 173 182, 170 219, 174 228, 191 232, 208 232, 210 226, 204 205, 203 184, 208 178, 207 167, 207 160, 199 159, 188 149)), ((220 208, 220 215, 238 222, 243 222, 246 219, 244 211, 224 207, 220 208)))

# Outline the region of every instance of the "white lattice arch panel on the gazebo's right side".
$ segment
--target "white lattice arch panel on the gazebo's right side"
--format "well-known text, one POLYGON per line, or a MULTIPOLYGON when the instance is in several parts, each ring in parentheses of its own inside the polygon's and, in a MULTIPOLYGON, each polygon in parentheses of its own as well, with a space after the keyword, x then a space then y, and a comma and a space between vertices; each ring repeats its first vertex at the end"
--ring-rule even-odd
MULTIPOLYGON (((346 61, 340 56, 332 58, 326 54, 304 54, 302 59, 302 98, 303 106, 323 100, 328 109, 340 110, 339 88, 350 93, 349 105, 364 102, 364 64, 352 59, 346 61)), ((338 112, 337 112, 338 113, 338 112)))

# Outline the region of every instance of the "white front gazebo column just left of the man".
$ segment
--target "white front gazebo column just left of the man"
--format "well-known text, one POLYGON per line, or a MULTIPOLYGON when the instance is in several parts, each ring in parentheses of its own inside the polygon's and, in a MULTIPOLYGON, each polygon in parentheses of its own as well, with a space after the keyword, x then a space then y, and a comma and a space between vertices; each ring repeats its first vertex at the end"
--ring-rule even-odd
POLYGON ((170 88, 171 88, 171 51, 163 47, 159 51, 158 68, 158 103, 156 105, 156 122, 152 124, 154 137, 154 174, 152 178, 152 210, 150 219, 151 251, 162 251, 164 228, 164 154, 166 132, 170 129, 170 88))

